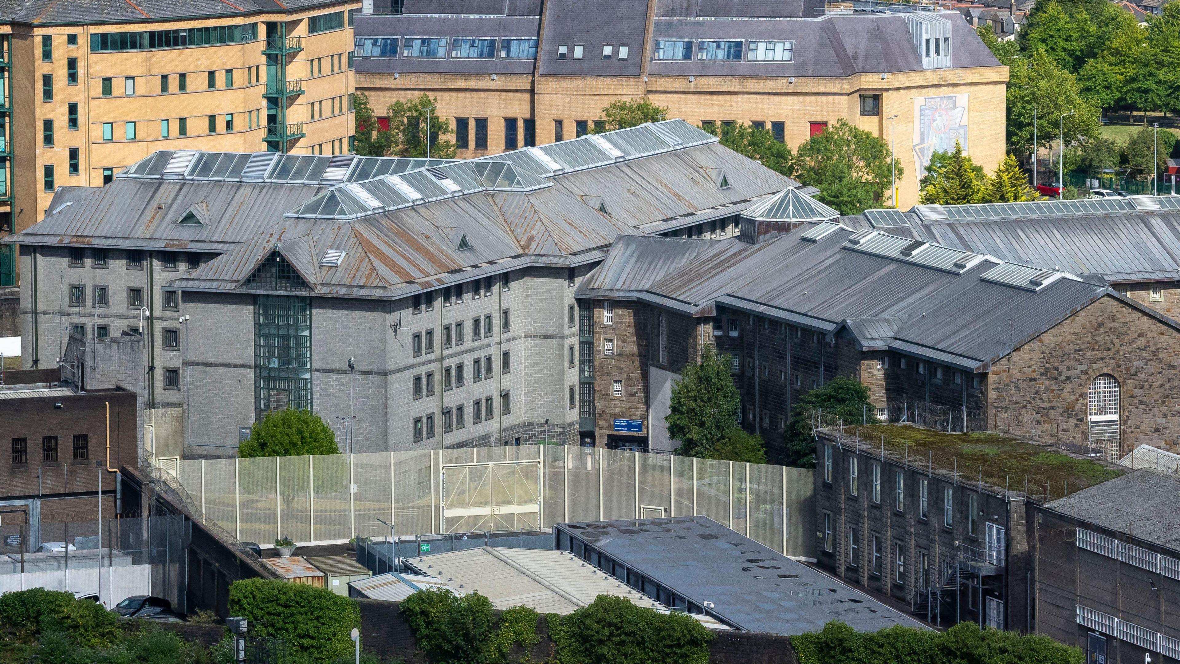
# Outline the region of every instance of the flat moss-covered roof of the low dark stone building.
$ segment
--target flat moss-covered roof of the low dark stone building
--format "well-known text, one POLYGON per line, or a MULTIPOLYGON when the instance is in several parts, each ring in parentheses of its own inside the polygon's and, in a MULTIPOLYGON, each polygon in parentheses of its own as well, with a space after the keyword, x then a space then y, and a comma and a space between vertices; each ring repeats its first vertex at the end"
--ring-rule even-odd
MULTIPOLYGON (((1060 497, 1067 484, 1073 494, 1123 474, 1115 464, 996 431, 946 434, 912 424, 870 424, 857 431, 863 445, 884 442, 886 453, 907 456, 911 464, 932 461, 936 471, 957 469, 961 481, 978 481, 982 469, 985 484, 1023 492, 1028 477, 1029 494, 1042 494, 1041 486, 1049 483, 1050 494, 1060 497)), ((852 432, 845 428, 846 435, 852 432)))

